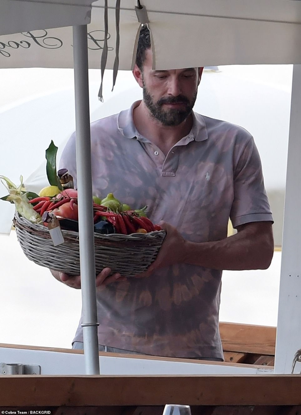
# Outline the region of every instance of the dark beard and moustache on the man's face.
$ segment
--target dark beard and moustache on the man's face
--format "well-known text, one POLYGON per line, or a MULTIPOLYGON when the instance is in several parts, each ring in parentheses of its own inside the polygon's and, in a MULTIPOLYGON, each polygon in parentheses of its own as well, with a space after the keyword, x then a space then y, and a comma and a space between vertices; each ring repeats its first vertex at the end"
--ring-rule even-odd
POLYGON ((193 106, 195 105, 195 100, 197 99, 197 91, 193 95, 191 101, 188 100, 184 95, 178 95, 177 97, 169 98, 160 98, 157 103, 154 103, 152 96, 148 92, 146 86, 143 84, 143 100, 147 108, 149 109, 152 116, 161 124, 166 127, 176 126, 181 124, 188 115, 190 114, 193 106), (168 110, 163 110, 163 104, 183 104, 183 108, 169 108, 168 110))

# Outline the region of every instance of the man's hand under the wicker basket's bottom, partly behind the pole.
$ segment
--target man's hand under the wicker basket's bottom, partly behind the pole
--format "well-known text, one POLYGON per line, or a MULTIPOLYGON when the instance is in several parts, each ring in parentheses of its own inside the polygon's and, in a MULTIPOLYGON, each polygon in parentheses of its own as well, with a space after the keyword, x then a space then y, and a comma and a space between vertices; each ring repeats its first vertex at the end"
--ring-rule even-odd
MULTIPOLYGON (((73 276, 66 274, 61 271, 54 271, 50 270, 54 278, 56 278, 58 281, 61 281, 65 285, 72 287, 72 288, 81 288, 80 284, 80 275, 73 276)), ((96 275, 96 287, 104 287, 110 283, 117 282, 117 281, 125 281, 126 278, 121 276, 120 273, 115 273, 111 276, 109 274, 111 273, 110 268, 104 268, 98 275, 96 275)))

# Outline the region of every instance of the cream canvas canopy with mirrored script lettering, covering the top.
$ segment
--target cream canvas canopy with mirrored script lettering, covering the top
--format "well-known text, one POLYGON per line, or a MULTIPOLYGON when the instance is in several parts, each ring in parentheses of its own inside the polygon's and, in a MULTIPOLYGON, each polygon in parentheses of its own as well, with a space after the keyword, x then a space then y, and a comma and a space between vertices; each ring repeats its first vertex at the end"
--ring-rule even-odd
MULTIPOLYGON (((157 69, 301 63, 298 0, 143 0, 142 9, 139 3, 121 0, 117 8, 119 69, 132 68, 138 19, 149 22, 157 69)), ((105 0, 0 0, 0 35, 8 34, 0 37, 0 67, 72 68, 72 28, 67 26, 89 23, 91 5, 89 67, 100 68, 105 0)), ((116 58, 115 7, 116 0, 108 0, 109 69, 116 58)))

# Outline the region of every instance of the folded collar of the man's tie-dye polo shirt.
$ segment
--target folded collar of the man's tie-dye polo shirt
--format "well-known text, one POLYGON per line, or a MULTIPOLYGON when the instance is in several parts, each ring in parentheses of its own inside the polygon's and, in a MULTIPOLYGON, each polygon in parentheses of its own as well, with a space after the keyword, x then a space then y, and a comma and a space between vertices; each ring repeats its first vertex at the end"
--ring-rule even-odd
MULTIPOLYGON (((141 100, 135 101, 130 108, 123 110, 117 117, 117 128, 127 138, 136 138, 137 130, 133 121, 133 110, 141 103, 141 100)), ((202 115, 192 112, 193 127, 186 136, 188 141, 203 141, 208 138, 205 120, 202 115)), ((183 137, 184 138, 184 137, 183 137)))

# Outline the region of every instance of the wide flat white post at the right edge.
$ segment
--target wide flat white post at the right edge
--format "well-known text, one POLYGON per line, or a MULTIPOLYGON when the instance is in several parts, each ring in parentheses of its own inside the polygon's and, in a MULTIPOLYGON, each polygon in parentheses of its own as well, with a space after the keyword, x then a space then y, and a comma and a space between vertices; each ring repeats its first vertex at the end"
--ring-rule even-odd
MULTIPOLYGON (((277 120, 275 120, 277 122, 277 120)), ((276 142, 271 143, 277 146, 276 142)), ((294 65, 287 156, 275 374, 291 373, 301 348, 301 65, 294 65)), ((296 366, 297 369, 297 366, 296 366)), ((300 367, 299 367, 300 372, 300 367)))

